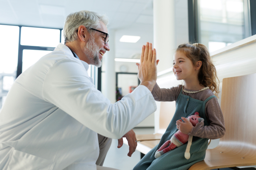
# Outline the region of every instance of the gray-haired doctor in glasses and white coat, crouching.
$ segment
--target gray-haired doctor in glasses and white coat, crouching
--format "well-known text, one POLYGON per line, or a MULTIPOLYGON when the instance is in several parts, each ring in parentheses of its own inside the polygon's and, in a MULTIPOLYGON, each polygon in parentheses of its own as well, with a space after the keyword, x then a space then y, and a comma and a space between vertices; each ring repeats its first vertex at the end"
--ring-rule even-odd
POLYGON ((15 80, 0 112, 1 170, 108 170, 101 166, 111 139, 121 147, 123 136, 128 156, 134 152, 131 129, 156 110, 151 91, 158 60, 152 45, 143 45, 140 86, 111 104, 87 74, 89 64, 100 67, 110 50, 107 24, 95 12, 68 15, 65 45, 15 80))

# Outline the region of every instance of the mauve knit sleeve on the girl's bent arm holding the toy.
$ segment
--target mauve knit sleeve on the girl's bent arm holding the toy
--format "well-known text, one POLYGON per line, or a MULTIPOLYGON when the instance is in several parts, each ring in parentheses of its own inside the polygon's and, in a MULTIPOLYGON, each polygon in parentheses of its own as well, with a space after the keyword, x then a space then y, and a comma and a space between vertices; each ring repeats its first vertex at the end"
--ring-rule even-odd
POLYGON ((218 139, 223 137, 226 129, 221 107, 218 104, 216 97, 210 99, 206 103, 205 111, 210 125, 204 126, 204 122, 202 121, 192 128, 189 135, 208 139, 218 139))

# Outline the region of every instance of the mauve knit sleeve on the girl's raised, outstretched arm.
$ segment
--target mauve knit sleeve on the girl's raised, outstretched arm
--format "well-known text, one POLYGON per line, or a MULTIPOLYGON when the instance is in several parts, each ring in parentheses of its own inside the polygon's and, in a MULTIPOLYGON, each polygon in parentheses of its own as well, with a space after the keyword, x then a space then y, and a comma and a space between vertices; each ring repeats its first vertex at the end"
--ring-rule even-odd
POLYGON ((182 85, 172 88, 160 88, 156 83, 151 93, 158 102, 172 102, 177 100, 181 88, 182 85))

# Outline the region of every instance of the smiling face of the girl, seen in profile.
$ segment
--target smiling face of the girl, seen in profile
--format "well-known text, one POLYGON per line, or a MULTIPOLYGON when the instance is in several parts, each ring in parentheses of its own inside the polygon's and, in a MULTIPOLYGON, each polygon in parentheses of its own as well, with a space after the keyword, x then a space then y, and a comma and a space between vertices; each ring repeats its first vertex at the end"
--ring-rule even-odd
POLYGON ((172 71, 177 80, 197 79, 198 76, 192 61, 179 51, 174 54, 172 71))

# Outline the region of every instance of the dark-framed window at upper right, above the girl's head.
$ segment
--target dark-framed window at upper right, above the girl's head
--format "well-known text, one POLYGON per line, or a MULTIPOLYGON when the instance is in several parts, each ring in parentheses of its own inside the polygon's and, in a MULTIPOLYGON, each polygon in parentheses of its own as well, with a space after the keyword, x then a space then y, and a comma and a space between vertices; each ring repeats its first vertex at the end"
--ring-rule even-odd
POLYGON ((190 6, 196 12, 195 31, 191 31, 195 37, 189 39, 206 45, 210 52, 251 36, 248 0, 196 0, 190 6))

